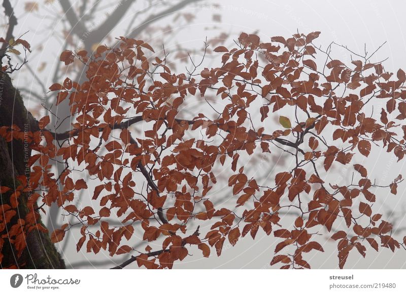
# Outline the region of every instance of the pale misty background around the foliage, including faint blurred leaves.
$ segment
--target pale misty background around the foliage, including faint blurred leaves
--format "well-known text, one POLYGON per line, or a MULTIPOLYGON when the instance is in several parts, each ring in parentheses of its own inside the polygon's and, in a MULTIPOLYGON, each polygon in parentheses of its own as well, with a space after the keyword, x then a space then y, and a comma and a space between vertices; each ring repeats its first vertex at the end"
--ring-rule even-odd
MULTIPOLYGON (((16 38, 23 35, 22 38, 27 40, 32 48, 32 53, 27 55, 28 63, 12 75, 14 86, 21 91, 25 106, 37 118, 46 115, 41 102, 46 103, 47 107, 54 107, 52 105, 54 97, 51 93, 47 93, 52 83, 61 82, 66 76, 71 79, 84 78, 80 71, 64 71, 65 67, 61 66, 59 61, 60 53, 65 49, 91 49, 94 46, 86 37, 81 37, 82 31, 78 33, 79 23, 82 21, 87 25, 89 32, 96 30, 106 21, 114 23, 112 29, 107 30, 103 37, 97 39, 97 44, 111 45, 114 44, 115 37, 133 34, 134 37, 142 38, 151 44, 157 54, 159 50, 162 54, 162 45, 164 45, 165 52, 170 53, 168 60, 174 62, 178 73, 184 72, 185 67, 190 65, 187 53, 194 60, 201 58, 206 39, 212 50, 219 45, 230 48, 233 46, 233 39, 237 39, 241 32, 256 33, 262 41, 269 41, 271 36, 289 37, 296 32, 308 34, 321 31, 315 43, 322 48, 326 48, 334 41, 362 54, 365 50, 373 52, 386 42, 371 62, 388 58, 384 62, 387 71, 396 72, 398 68, 406 69, 406 58, 404 58, 406 19, 403 15, 406 3, 403 2, 95 0, 87 1, 87 5, 82 8, 83 0, 71 0, 73 11, 82 13, 82 17, 79 17, 75 26, 72 26, 68 19, 69 13, 65 13, 62 7, 68 1, 39 0, 37 2, 11 1, 11 3, 18 19, 14 35, 16 38), (114 11, 121 6, 125 11, 119 18, 112 18, 114 11), (92 17, 89 18, 88 15, 92 17)), ((6 21, 7 19, 3 20, 4 23, 6 21)), ((351 55, 343 48, 334 47, 332 53, 336 59, 345 63, 351 62, 351 55)), ((205 60, 205 66, 215 66, 210 56, 205 60)), ((67 106, 64 107, 62 105, 58 109, 55 108, 55 112, 62 115, 66 112, 67 106)), ((63 127, 69 128, 69 120, 63 127)), ((269 158, 269 160, 283 160, 284 158, 279 155, 275 152, 272 156, 276 158, 269 158)), ((386 185, 391 183, 404 167, 404 160, 396 162, 396 158, 392 155, 385 150, 373 148, 367 159, 354 156, 352 163, 363 164, 368 170, 368 178, 376 179, 377 184, 386 185)), ((255 162, 251 163, 254 164, 252 169, 255 171, 257 166, 255 162)), ((82 177, 86 178, 85 175, 82 177)), ((351 179, 351 175, 342 169, 342 166, 338 166, 329 174, 329 178, 340 177, 351 179)), ((382 213, 383 219, 392 222, 393 232, 398 239, 406 234, 405 185, 405 183, 399 184, 397 195, 390 194, 389 189, 377 190, 375 193, 377 202, 373 207, 374 213, 382 213)), ((89 194, 80 195, 81 201, 86 202, 89 198, 91 199, 93 189, 90 186, 89 188, 89 194)), ((227 199, 225 195, 224 201, 235 202, 235 196, 232 197, 230 194, 230 198, 233 199, 227 199)), ((47 216, 42 218, 51 232, 53 231, 51 227, 59 228, 63 222, 66 222, 56 207, 44 206, 44 208, 47 216)), ((283 223, 291 223, 294 218, 287 214, 283 218, 283 223)), ((318 240, 325 252, 306 255, 305 259, 312 268, 338 267, 337 242, 327 240, 325 236, 318 240)), ((76 243, 79 237, 79 230, 74 229, 66 234, 62 242, 56 244, 67 268, 110 268, 128 258, 128 256, 111 258, 103 250, 97 255, 87 254, 85 246, 77 253, 76 243)), ((255 240, 247 235, 240 238, 233 247, 226 241, 220 257, 215 255, 214 250, 210 258, 203 258, 199 250, 192 250, 190 252, 192 256, 175 263, 174 268, 279 268, 270 267, 269 262, 272 260, 275 245, 280 241, 281 239, 275 238, 273 234, 267 236, 259 230, 255 240)), ((143 243, 141 238, 138 243, 142 251, 146 243, 143 243)), ((345 268, 406 268, 406 251, 403 249, 397 249, 392 253, 389 248, 380 247, 377 253, 368 244, 365 245, 366 258, 362 258, 356 250, 352 250, 345 268)), ((137 266, 131 265, 128 268, 137 268, 137 266)))

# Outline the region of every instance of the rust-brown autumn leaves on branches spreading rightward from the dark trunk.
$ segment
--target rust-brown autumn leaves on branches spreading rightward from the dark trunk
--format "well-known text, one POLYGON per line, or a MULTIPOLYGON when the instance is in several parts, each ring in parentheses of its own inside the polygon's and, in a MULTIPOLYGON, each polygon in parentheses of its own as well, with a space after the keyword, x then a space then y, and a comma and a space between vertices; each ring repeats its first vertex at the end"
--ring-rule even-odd
POLYGON ((235 48, 214 49, 217 67, 196 64, 185 73, 172 72, 166 56, 154 55, 143 41, 124 37, 117 47, 91 54, 62 52, 65 65, 86 66, 82 85, 66 78, 50 87, 58 103, 69 100, 72 130, 58 133, 49 116, 25 137, 18 128, 0 130, 7 141, 27 140, 36 151, 29 179, 20 176, 13 191, 1 187, 13 193, 1 206, 3 227, 18 217, 20 193, 32 194, 30 213, 2 236, 0 247, 8 238, 21 252, 26 232, 46 231, 36 221, 38 205, 56 202, 77 222, 55 230, 52 241, 80 226, 77 250, 127 254, 117 268, 132 262, 172 268, 192 247, 204 257, 220 256, 225 243, 255 239, 258 230, 269 242, 278 240, 269 261, 283 269, 310 268, 306 255, 324 251, 320 234, 337 242, 340 268, 352 250, 365 257, 369 246, 404 248, 406 239, 395 240, 392 225, 373 207, 374 191, 396 194, 402 177, 378 186, 356 158, 373 148, 403 158, 406 75, 393 76, 368 56, 349 64, 334 60, 313 44, 318 35, 262 43, 242 33, 235 48), (195 113, 183 111, 190 103, 198 105, 195 113), (378 115, 376 107, 371 114, 374 103, 382 104, 378 115), (281 150, 293 166, 265 157, 261 168, 275 165, 275 175, 259 182, 245 173, 247 164, 259 164, 249 158, 281 150), (59 173, 52 169, 55 158, 65 162, 59 173), (328 174, 333 165, 355 172, 351 183, 337 184, 328 174), (81 169, 86 177, 78 179, 81 169), (74 199, 83 189, 91 202, 79 207, 74 199), (218 201, 221 193, 228 204, 218 201), (297 217, 286 225, 281 219, 288 210, 297 217), (122 225, 111 225, 111 218, 122 225), (136 231, 146 248, 133 247, 136 231))

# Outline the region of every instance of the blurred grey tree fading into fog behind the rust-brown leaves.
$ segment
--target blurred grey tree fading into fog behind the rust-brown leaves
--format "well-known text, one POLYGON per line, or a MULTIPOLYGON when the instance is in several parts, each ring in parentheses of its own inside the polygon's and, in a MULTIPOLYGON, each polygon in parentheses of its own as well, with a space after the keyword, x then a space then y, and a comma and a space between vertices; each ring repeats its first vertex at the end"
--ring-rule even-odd
MULTIPOLYGON (((81 48, 91 52, 98 45, 115 46, 115 39, 112 37, 116 31, 120 35, 124 34, 131 38, 149 39, 150 44, 154 46, 162 46, 168 43, 168 39, 176 39, 177 34, 181 29, 174 29, 175 27, 186 27, 187 24, 193 22, 194 15, 190 13, 190 9, 194 5, 202 3, 200 0, 179 0, 179 1, 153 1, 153 0, 79 0, 79 1, 44 1, 35 2, 30 1, 25 6, 16 5, 17 15, 19 15, 19 22, 24 23, 24 32, 27 32, 27 38, 30 38, 30 44, 33 52, 41 52, 42 56, 59 55, 60 52, 55 52, 54 46, 44 46, 48 42, 52 44, 59 44, 60 51, 72 50, 80 51, 81 48), (24 9, 23 9, 24 8, 24 9), (42 23, 42 33, 35 38, 32 36, 32 31, 37 30, 37 22, 32 21, 32 18, 37 17, 42 23), (160 25, 160 21, 165 20, 164 26, 160 25), (45 21, 45 22, 44 22, 45 21), (29 24, 32 23, 31 27, 29 24), (162 37, 154 38, 153 32, 163 31, 162 37), (50 41, 51 40, 51 41, 50 41), (154 43, 151 43, 154 42, 154 43)), ((9 1, 4 1, 12 10, 9 1)), ((10 17, 9 14, 8 16, 10 17)), ((8 23, 12 26, 17 24, 17 19, 10 18, 8 23)), ((7 19, 6 19, 7 20, 7 19)), ((11 30, 12 32, 12 30, 11 30)), ((226 38, 226 34, 220 34, 222 41, 226 38)), ((17 38, 18 36, 15 36, 17 38)), ((6 39, 13 38, 10 33, 6 39)), ((214 44, 216 40, 212 40, 214 44)), ((209 40, 210 43, 210 40, 209 40)), ((179 58, 188 58, 187 53, 192 54, 195 50, 191 48, 183 48, 178 46, 176 55, 179 58)), ((173 51, 173 53, 175 53, 173 51)), ((19 58, 13 56, 13 58, 19 58)), ((51 115, 52 123, 60 124, 59 130, 69 130, 70 122, 67 117, 71 115, 69 105, 61 103, 55 107, 56 95, 54 93, 47 93, 47 82, 51 83, 62 82, 66 70, 69 69, 69 74, 72 80, 83 82, 86 78, 84 74, 83 64, 77 62, 67 68, 63 63, 51 63, 43 61, 36 68, 38 56, 32 54, 30 56, 30 63, 22 67, 19 73, 19 85, 17 89, 21 91, 23 97, 30 99, 31 111, 40 112, 44 114, 55 113, 51 115), (53 66, 53 65, 56 66, 53 66), (32 83, 32 81, 35 81, 32 83), (28 87, 27 85, 33 85, 28 87), (44 106, 44 107, 42 107, 44 106)), ((23 61, 21 58, 20 61, 23 61)), ((174 63, 175 65, 177 63, 174 63)), ((63 170, 63 165, 58 165, 58 170, 63 170)), ((49 208, 46 224, 48 226, 60 225, 59 217, 60 211, 56 205, 49 208)))

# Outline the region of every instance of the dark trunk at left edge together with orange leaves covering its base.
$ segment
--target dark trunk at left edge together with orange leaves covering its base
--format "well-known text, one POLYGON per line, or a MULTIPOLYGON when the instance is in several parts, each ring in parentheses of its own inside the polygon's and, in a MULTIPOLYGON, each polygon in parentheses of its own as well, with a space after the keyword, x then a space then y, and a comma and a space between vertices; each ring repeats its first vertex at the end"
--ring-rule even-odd
MULTIPOLYGON (((2 72, 0 125, 25 132, 38 130, 38 122, 27 112, 7 73, 2 72)), ((13 133, 13 132, 12 132, 13 133)), ((64 268, 64 262, 41 222, 36 198, 27 185, 31 148, 24 141, 0 136, 0 264, 8 268, 64 268), (18 191, 15 190, 16 187, 18 191), (23 187, 23 188, 22 188, 23 187)))

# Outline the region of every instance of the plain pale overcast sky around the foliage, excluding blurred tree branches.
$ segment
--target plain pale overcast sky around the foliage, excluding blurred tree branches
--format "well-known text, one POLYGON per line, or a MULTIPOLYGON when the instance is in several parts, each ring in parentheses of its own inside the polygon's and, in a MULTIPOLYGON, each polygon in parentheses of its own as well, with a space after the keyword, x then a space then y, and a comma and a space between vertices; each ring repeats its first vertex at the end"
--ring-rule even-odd
MULTIPOLYGON (((63 0, 61 0, 63 1, 63 0)), ((60 31, 64 26, 63 13, 58 1, 49 1, 45 4, 39 1, 39 10, 27 12, 25 10, 27 1, 11 1, 18 18, 18 26, 14 35, 23 33, 24 39, 31 44, 33 52, 28 55, 29 65, 36 72, 36 76, 48 87, 52 84, 52 73, 59 62, 59 55, 63 51, 63 38, 54 34, 53 30, 60 31), (42 48, 41 48, 42 47, 42 48), (45 64, 45 65, 44 65, 45 64), (41 70, 39 70, 41 69, 41 70)), ((114 1, 102 1, 104 6, 100 10, 97 21, 103 22, 116 4, 114 1)), ((167 1, 166 3, 176 3, 167 1)), ((75 6, 75 1, 71 3, 75 6)), ((157 5, 157 1, 152 1, 157 5)), ((111 36, 124 35, 124 32, 133 16, 148 7, 146 1, 136 1, 122 20, 111 32, 111 36)), ((405 49, 406 42, 404 29, 406 18, 404 12, 406 3, 403 1, 195 1, 192 4, 174 12, 155 22, 153 27, 164 28, 172 26, 176 33, 168 33, 163 29, 150 30, 147 43, 162 44, 165 49, 171 52, 179 45, 193 50, 201 50, 206 37, 210 39, 227 36, 224 45, 231 46, 232 39, 238 38, 241 32, 256 32, 263 41, 269 40, 271 36, 282 35, 289 37, 299 31, 307 34, 312 31, 321 31, 317 44, 327 47, 332 41, 346 45, 354 52, 362 53, 364 48, 373 52, 385 41, 383 48, 375 55, 373 62, 388 58, 385 61, 385 69, 396 72, 398 68, 406 68, 405 49), (194 19, 190 22, 179 23, 173 17, 179 13, 191 14, 194 19), (220 20, 220 21, 219 21, 220 20), (221 35, 225 33, 225 35, 221 35), (167 37, 170 35, 171 37, 167 37)), ((154 13, 154 9, 149 13, 154 13)), ((142 18, 142 14, 140 15, 142 18)), ((97 23, 95 23, 97 26, 97 23)), ((67 32, 69 37, 70 32, 67 32)), ((103 43, 103 42, 102 42, 103 43)), ((80 46, 80 44, 78 45, 80 46)), ((350 60, 350 55, 344 50, 334 49, 335 56, 343 61, 350 60)), ((182 68, 182 67, 180 67, 182 68)), ((181 70, 179 70, 181 71, 181 70)), ((41 108, 38 107, 39 100, 29 95, 29 92, 41 93, 41 86, 38 80, 33 78, 32 72, 27 69, 21 70, 13 75, 17 88, 24 88, 26 106, 33 112, 41 115, 41 108)), ((38 117, 37 116, 37 117, 38 117)), ((396 160, 386 152, 374 151, 368 160, 362 164, 369 167, 368 176, 376 178, 377 183, 392 181, 403 169, 403 162, 396 163, 396 160)), ((339 171, 337 171, 339 173, 339 171)), ((394 221, 396 236, 405 234, 403 227, 404 220, 404 183, 398 188, 398 194, 377 194, 377 204, 374 209, 379 209, 386 219, 394 221)), ((87 195, 85 195, 86 197, 87 195)), ((291 221, 287 216, 286 221, 291 221)), ((78 236, 78 235, 76 235, 78 236)), ((82 249, 76 252, 77 238, 68 238, 67 244, 58 243, 59 249, 65 260, 66 267, 74 268, 106 268, 115 264, 108 254, 100 252, 98 255, 86 254, 82 249)), ((183 262, 176 263, 174 268, 270 268, 269 262, 273 257, 273 250, 278 243, 273 235, 266 236, 260 230, 255 240, 249 235, 231 247, 225 242, 221 257, 215 256, 212 252, 210 258, 202 258, 200 252, 187 257, 183 262)), ((318 253, 314 258, 306 260, 312 268, 337 268, 336 242, 322 239, 325 253, 318 253)), ((142 246, 141 248, 143 248, 142 246)), ((374 249, 368 248, 366 258, 363 259, 355 250, 350 254, 346 268, 406 268, 406 251, 399 249, 393 254, 388 248, 381 248, 376 253, 374 249)), ((310 256, 310 255, 309 255, 310 256)), ((121 258, 115 258, 116 262, 121 258)), ((129 268, 134 268, 130 266, 129 268)))

